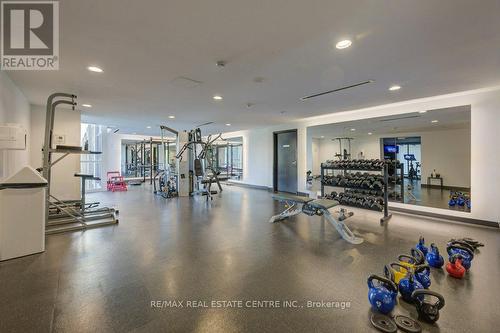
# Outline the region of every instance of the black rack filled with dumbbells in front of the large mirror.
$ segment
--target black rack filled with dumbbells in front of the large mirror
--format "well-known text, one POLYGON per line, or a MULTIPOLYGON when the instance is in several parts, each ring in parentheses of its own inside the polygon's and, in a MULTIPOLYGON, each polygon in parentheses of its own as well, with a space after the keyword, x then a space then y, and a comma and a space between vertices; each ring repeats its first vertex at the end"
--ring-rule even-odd
POLYGON ((384 215, 380 223, 383 224, 392 216, 387 206, 391 162, 379 159, 326 161, 321 164, 321 197, 337 200, 345 206, 381 211, 384 215), (344 191, 325 195, 327 186, 344 191))

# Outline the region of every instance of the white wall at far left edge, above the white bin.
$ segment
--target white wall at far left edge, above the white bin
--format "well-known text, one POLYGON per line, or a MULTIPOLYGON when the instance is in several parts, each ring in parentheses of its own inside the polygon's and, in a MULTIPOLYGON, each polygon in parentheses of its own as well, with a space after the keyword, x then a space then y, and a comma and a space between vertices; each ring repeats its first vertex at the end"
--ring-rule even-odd
MULTIPOLYGON (((30 105, 12 80, 0 71, 0 123, 21 124, 30 140, 30 105)), ((0 179, 7 178, 29 164, 30 147, 26 150, 0 151, 0 179)))

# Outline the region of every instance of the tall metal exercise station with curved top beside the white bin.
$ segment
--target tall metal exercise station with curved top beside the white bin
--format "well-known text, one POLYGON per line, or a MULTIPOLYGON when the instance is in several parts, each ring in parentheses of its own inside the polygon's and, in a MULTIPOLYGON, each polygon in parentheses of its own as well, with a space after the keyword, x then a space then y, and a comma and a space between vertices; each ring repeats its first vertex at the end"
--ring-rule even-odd
POLYGON ((45 141, 43 145, 43 167, 38 169, 47 180, 46 205, 45 205, 45 233, 53 234, 66 231, 85 230, 92 227, 100 227, 118 223, 118 210, 114 208, 99 206, 99 202, 87 203, 85 201, 85 183, 87 180, 100 180, 93 175, 75 173, 75 177, 81 179, 80 200, 60 200, 50 193, 52 167, 68 155, 77 154, 101 154, 101 152, 89 151, 79 146, 58 145, 52 147, 54 120, 56 107, 59 105, 76 106, 76 95, 66 93, 54 93, 47 99, 45 118, 45 141), (57 159, 52 160, 54 154, 60 154, 57 159))

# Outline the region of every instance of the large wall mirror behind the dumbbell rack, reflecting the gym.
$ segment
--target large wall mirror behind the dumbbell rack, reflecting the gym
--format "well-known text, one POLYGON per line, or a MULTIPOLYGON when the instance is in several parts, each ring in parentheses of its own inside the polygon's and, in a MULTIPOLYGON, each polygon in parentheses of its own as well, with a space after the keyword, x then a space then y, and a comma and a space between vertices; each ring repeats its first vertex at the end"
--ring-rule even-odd
MULTIPOLYGON (((469 105, 313 126, 307 135, 308 188, 319 195, 322 163, 384 159, 389 201, 471 210, 469 105)), ((345 188, 323 184, 323 191, 345 188)))

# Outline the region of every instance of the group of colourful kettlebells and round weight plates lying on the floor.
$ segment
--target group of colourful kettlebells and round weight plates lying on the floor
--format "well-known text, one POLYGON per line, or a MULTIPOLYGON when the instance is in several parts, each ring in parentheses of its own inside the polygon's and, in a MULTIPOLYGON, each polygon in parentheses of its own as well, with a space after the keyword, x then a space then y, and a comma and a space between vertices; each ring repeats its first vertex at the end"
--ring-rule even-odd
MULTIPOLYGON (((446 244, 449 262, 446 271, 450 277, 461 279, 470 269, 474 253, 484 244, 471 239, 450 239, 446 244)), ((384 267, 384 276, 370 275, 367 279, 368 301, 373 313, 370 321, 382 332, 421 332, 420 323, 407 316, 391 312, 398 304, 397 294, 406 303, 415 306, 418 320, 434 324, 439 320, 440 310, 445 306, 444 296, 429 290, 431 267, 441 270, 444 259, 436 244, 426 246, 421 236, 410 254, 401 254, 398 261, 384 267)))

